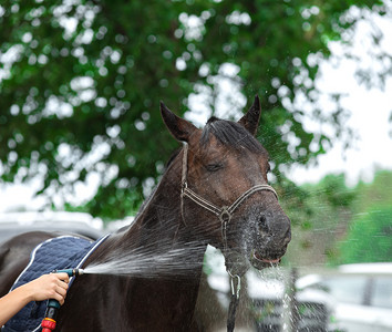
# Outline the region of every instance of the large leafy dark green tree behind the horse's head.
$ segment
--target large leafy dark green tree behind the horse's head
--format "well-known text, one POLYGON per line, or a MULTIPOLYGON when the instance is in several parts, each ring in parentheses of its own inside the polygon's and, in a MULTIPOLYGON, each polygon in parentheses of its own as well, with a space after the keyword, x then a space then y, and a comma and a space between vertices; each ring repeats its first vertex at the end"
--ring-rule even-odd
POLYGON ((289 190, 281 172, 324 153, 344 129, 339 96, 329 117, 313 110, 314 118, 333 124, 332 136, 308 133, 293 100, 299 93, 317 100, 328 42, 361 19, 348 14, 353 3, 386 10, 370 0, 2 1, 2 180, 40 175, 40 193, 52 198, 97 178, 85 209, 123 217, 177 146, 164 131, 158 101, 184 114, 202 95, 216 112, 219 83, 228 80, 240 92, 225 101, 234 111, 260 95, 260 141, 281 191, 289 190))

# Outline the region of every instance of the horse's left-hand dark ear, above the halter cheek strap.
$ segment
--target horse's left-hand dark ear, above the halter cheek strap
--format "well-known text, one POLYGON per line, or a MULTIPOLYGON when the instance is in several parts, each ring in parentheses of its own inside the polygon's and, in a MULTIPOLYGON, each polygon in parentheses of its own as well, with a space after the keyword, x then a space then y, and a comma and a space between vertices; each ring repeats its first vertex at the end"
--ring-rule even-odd
POLYGON ((175 115, 166 105, 161 102, 162 118, 174 138, 188 142, 190 135, 197 129, 190 122, 175 115))

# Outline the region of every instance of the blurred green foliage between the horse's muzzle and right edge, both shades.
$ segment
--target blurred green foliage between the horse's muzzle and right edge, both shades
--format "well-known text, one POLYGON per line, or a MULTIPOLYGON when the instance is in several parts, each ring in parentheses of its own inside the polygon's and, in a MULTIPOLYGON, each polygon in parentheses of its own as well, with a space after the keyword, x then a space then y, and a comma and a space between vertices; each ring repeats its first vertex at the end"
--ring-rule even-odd
POLYGON ((379 170, 371 184, 345 186, 343 175, 306 185, 308 216, 301 216, 289 250, 291 263, 328 264, 391 261, 392 172, 379 170))

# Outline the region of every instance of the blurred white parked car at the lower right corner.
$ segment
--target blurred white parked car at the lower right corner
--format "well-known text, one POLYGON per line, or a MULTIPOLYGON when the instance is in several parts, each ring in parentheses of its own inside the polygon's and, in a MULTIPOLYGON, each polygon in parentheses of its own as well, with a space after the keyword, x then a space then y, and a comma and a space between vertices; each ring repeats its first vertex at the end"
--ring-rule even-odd
POLYGON ((298 280, 303 290, 319 290, 336 301, 336 320, 347 332, 392 331, 392 263, 340 266, 336 271, 298 280))

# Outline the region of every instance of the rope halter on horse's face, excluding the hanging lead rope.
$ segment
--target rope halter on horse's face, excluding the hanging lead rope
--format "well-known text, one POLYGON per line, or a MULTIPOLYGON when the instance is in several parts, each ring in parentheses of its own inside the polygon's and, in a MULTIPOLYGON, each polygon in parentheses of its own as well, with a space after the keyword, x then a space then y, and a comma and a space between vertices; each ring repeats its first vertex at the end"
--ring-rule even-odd
POLYGON ((204 199, 202 196, 197 195, 195 191, 188 188, 187 183, 187 172, 188 172, 188 144, 184 143, 184 155, 183 155, 183 173, 182 173, 182 215, 184 219, 184 197, 190 198, 194 203, 199 205, 200 207, 207 209, 208 211, 216 215, 220 222, 221 222, 221 238, 224 242, 224 250, 227 249, 227 226, 231 220, 231 216, 234 211, 239 207, 239 205, 248 198, 250 195, 255 194, 256 191, 260 190, 268 190, 271 191, 275 197, 278 199, 278 194, 275 189, 269 185, 256 185, 250 189, 246 190, 243 195, 240 195, 230 206, 223 206, 217 207, 216 205, 212 204, 210 201, 204 199))

